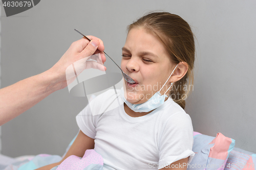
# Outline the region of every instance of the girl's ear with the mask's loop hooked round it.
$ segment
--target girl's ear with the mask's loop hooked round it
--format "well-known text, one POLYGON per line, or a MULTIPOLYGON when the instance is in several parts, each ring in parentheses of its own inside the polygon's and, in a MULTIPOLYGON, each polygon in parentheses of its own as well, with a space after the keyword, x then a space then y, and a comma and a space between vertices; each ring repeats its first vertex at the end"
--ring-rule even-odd
MULTIPOLYGON (((173 68, 174 69, 174 68, 173 68)), ((180 62, 177 66, 177 68, 175 69, 173 75, 170 77, 170 82, 177 82, 180 79, 182 79, 188 70, 188 64, 186 62, 180 62)))

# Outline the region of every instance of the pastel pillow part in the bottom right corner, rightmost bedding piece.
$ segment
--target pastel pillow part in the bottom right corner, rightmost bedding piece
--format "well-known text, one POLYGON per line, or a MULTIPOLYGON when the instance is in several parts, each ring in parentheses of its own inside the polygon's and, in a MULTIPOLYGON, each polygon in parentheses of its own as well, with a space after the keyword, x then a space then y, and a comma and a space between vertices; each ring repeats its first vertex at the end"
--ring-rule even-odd
POLYGON ((255 170, 256 169, 256 154, 248 152, 239 148, 234 148, 227 159, 224 170, 227 169, 243 169, 255 170))

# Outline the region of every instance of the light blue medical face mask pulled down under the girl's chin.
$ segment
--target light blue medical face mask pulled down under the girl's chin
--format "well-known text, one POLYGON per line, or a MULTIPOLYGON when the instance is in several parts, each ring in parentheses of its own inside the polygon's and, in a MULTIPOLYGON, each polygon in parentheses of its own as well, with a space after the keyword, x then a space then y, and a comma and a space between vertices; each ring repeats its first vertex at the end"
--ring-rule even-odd
MULTIPOLYGON (((176 65, 176 67, 177 66, 178 66, 178 64, 176 65)), ((174 68, 174 70, 176 69, 176 67, 174 68)), ((174 72, 174 70, 173 70, 173 72, 174 72)), ((173 72, 170 74, 170 76, 173 75, 173 72)), ((169 76, 169 78, 170 78, 170 76, 169 76)), ((169 78, 166 80, 164 85, 167 83, 169 78)), ((164 87, 164 85, 162 86, 162 88, 164 87)), ((173 85, 173 83, 170 84, 170 87, 172 87, 172 85, 173 85)), ((170 89, 170 87, 167 89, 167 91, 170 89)), ((149 111, 154 110, 154 109, 158 108, 159 106, 161 106, 164 103, 165 98, 168 97, 165 94, 167 91, 165 91, 165 93, 163 95, 160 94, 160 91, 162 90, 162 88, 159 91, 157 91, 148 101, 146 101, 145 103, 141 103, 141 104, 132 104, 132 103, 128 102, 124 97, 123 87, 121 89, 121 98, 124 101, 124 103, 133 111, 149 112, 149 111)))

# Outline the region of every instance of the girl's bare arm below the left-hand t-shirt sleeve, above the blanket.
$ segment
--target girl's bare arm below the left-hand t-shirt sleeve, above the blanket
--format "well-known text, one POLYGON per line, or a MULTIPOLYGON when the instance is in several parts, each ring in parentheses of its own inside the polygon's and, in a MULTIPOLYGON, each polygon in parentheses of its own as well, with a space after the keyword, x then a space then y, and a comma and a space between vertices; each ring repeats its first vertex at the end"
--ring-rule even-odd
POLYGON ((37 170, 49 170, 49 169, 53 168, 54 166, 59 165, 61 162, 63 162, 66 158, 68 158, 71 155, 83 157, 86 150, 89 150, 89 149, 94 149, 94 139, 88 137, 82 131, 79 131, 75 141, 73 142, 69 151, 67 152, 65 157, 62 158, 61 161, 53 163, 53 164, 49 164, 46 166, 42 166, 40 168, 37 168, 37 170))

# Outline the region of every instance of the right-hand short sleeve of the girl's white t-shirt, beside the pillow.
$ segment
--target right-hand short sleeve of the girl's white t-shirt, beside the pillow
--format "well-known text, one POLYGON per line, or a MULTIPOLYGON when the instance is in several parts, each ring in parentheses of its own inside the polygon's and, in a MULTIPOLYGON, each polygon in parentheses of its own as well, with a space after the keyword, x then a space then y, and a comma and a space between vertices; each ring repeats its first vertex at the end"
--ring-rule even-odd
POLYGON ((159 165, 167 166, 187 157, 190 163, 195 155, 192 148, 193 126, 190 116, 185 112, 170 116, 159 142, 159 165))

